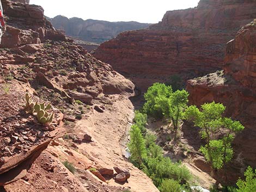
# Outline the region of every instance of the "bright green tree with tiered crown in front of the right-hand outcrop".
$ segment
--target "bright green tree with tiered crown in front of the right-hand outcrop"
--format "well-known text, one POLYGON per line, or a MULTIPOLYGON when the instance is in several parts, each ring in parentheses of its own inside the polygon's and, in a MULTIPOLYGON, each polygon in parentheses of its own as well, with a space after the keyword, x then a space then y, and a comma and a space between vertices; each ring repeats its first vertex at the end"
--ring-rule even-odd
POLYGON ((196 106, 190 106, 185 112, 185 117, 200 128, 202 139, 206 145, 200 148, 205 159, 211 163, 212 168, 222 169, 233 157, 233 142, 236 133, 244 127, 239 121, 223 117, 225 107, 221 103, 205 103, 200 111, 196 106), (220 139, 215 139, 215 138, 220 139))

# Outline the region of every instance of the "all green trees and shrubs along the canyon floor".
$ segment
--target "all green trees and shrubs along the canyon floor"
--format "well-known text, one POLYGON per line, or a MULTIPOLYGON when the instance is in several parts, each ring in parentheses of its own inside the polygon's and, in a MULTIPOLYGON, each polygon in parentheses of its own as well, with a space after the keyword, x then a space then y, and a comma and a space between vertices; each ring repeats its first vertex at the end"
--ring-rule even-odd
MULTIPOLYGON (((199 134, 202 143, 205 143, 199 152, 210 163, 214 172, 223 170, 226 174, 226 165, 234 156, 232 142, 244 127, 239 121, 223 115, 223 104, 211 102, 200 108, 188 106, 186 90, 173 91, 171 85, 161 83, 153 84, 144 94, 144 98, 145 104, 141 110, 135 112, 134 124, 131 126, 130 160, 153 180, 160 191, 190 191, 189 186, 193 184, 193 179, 190 171, 181 162, 175 163, 169 157, 164 157, 162 148, 156 144, 156 135, 147 130, 148 116, 169 121, 175 138, 183 120, 191 121, 195 127, 200 128, 199 134)), ((248 168, 245 174, 250 175, 251 172, 248 168)), ((252 178, 253 175, 249 177, 252 178)), ((246 181, 240 179, 237 186, 241 188, 246 181)), ((243 191, 240 188, 237 190, 243 191)), ((225 188, 225 191, 233 190, 236 191, 236 188, 225 188)))

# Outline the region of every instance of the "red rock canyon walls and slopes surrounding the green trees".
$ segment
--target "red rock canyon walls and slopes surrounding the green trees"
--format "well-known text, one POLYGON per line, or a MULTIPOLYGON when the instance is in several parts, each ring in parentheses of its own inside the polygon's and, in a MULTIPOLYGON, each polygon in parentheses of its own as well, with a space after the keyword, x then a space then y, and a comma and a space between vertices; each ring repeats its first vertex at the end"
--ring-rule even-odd
MULTIPOLYGON (((0 46, 1 192, 159 191, 126 158, 126 147, 135 104, 142 102, 136 96, 172 75, 186 83, 190 104, 221 102, 227 107, 225 114, 245 126, 234 142, 229 184, 248 165, 255 167, 255 1, 201 0, 196 8, 167 11, 161 22, 114 39, 121 31, 113 32, 110 23, 74 18, 99 32, 82 37, 87 27, 73 23, 71 30, 73 19, 63 16, 50 19, 52 24, 43 8, 27 0, 2 4, 7 26, 0 46), (76 38, 111 40, 91 54, 83 42, 56 30, 54 22, 55 28, 76 32, 76 38), (51 126, 42 126, 33 114, 25 113, 26 93, 33 102, 52 104, 51 126), (74 166, 73 173, 66 162, 74 166), (120 169, 129 175, 121 182, 116 177, 120 169)), ((184 121, 180 146, 170 150, 169 126, 148 119, 165 154, 184 160, 205 188, 215 179, 222 181, 221 171, 211 177, 209 164, 198 152, 202 140, 194 139, 197 129, 184 121), (182 151, 185 146, 190 154, 182 151)))

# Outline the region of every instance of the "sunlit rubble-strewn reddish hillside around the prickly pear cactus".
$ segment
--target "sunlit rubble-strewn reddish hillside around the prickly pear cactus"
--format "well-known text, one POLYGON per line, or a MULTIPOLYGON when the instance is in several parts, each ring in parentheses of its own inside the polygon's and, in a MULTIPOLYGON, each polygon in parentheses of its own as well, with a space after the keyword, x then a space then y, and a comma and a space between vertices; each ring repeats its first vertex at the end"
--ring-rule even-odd
POLYGON ((158 191, 123 155, 133 83, 57 32, 41 7, 2 4, 1 190, 158 191), (33 102, 52 104, 50 126, 25 113, 26 92, 33 102), (64 162, 72 165, 69 170, 64 162), (130 178, 118 182, 114 166, 130 178), (95 171, 101 168, 104 177, 95 171))

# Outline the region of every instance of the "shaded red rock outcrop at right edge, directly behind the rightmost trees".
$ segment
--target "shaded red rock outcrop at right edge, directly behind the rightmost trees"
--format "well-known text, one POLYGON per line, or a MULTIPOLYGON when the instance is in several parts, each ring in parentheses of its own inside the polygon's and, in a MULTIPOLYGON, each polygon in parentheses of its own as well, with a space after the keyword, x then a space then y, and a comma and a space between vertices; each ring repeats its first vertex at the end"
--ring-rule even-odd
POLYGON ((226 114, 240 120, 245 130, 235 139, 235 160, 228 180, 235 182, 248 165, 256 166, 256 20, 242 27, 227 44, 223 71, 189 80, 191 104, 221 102, 226 114))

